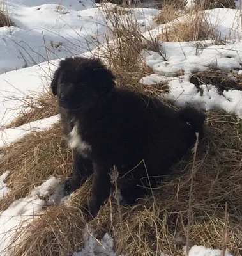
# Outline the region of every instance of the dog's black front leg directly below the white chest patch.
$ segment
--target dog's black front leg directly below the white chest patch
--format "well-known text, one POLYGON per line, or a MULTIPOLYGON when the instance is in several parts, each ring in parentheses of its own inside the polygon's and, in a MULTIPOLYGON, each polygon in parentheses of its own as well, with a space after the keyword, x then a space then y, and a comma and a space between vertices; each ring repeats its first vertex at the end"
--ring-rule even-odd
POLYGON ((64 190, 67 193, 80 188, 80 186, 91 176, 93 163, 90 159, 82 157, 76 150, 73 150, 73 176, 66 181, 64 190))

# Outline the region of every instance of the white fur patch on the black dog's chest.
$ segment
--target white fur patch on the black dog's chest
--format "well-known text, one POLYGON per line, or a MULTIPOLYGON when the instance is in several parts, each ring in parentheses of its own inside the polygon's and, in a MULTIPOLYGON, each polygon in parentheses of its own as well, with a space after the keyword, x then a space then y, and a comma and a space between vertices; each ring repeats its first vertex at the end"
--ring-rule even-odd
POLYGON ((82 136, 78 132, 78 124, 75 124, 69 133, 68 144, 70 148, 75 148, 83 157, 86 157, 87 153, 91 152, 91 146, 82 140, 82 136))

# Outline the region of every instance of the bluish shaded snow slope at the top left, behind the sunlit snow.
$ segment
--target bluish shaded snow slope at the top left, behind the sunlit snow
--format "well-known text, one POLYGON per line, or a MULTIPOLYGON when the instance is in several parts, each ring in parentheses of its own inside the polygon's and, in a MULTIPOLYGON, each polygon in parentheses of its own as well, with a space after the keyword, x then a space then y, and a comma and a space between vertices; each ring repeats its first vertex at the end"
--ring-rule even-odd
MULTIPOLYGON (((0 28, 0 74, 47 60, 82 54, 104 42, 112 28, 102 5, 91 0, 7 1, 15 27, 0 28), (36 1, 37 2, 37 1, 36 1), (46 47, 45 47, 46 46, 46 47)), ((114 4, 107 4, 112 8, 114 4)), ((135 8, 142 31, 153 24, 158 10, 135 8)))

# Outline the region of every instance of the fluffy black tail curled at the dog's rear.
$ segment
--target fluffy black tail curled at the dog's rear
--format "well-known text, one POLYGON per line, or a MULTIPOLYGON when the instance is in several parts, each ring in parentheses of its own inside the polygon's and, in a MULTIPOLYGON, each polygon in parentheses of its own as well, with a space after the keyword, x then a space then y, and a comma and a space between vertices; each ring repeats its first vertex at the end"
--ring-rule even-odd
POLYGON ((199 132, 200 139, 204 137, 205 113, 190 106, 186 106, 183 109, 179 109, 178 115, 181 121, 191 125, 191 129, 194 133, 199 132))

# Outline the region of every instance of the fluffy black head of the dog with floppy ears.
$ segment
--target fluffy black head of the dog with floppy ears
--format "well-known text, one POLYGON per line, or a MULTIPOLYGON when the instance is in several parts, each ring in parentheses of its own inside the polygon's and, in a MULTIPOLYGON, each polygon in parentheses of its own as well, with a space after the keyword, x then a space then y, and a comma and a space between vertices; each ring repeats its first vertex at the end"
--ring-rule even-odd
POLYGON ((75 57, 60 62, 51 88, 61 108, 90 109, 108 97, 114 84, 114 74, 100 60, 75 57))

